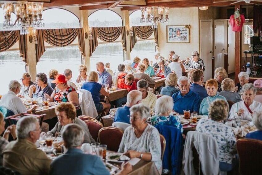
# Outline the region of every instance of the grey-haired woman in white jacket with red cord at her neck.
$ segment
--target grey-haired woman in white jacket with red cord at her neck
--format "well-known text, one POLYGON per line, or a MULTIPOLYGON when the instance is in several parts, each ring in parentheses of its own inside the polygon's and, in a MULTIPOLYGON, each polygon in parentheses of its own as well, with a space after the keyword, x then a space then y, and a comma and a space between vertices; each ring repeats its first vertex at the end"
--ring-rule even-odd
POLYGON ((253 112, 259 112, 262 110, 262 104, 254 100, 256 87, 252 83, 243 85, 241 95, 243 101, 232 105, 228 120, 243 119, 252 121, 253 112))

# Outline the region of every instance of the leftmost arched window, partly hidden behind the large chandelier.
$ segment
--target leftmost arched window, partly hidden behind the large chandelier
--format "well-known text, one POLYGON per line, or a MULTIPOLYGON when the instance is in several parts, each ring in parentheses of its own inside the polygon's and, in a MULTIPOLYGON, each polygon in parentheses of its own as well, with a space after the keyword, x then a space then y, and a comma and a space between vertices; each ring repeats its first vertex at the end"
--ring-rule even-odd
MULTIPOLYGON (((0 8, 0 30, 3 30, 4 16, 2 8, 0 8)), ((14 22, 16 16, 11 13, 11 20, 14 22)), ((16 29, 15 29, 16 30, 16 29)), ((1 76, 1 86, 0 94, 5 94, 8 92, 8 84, 11 80, 17 80, 22 83, 19 79, 25 72, 25 63, 20 57, 18 42, 15 43, 9 50, 0 52, 0 75, 1 76)))

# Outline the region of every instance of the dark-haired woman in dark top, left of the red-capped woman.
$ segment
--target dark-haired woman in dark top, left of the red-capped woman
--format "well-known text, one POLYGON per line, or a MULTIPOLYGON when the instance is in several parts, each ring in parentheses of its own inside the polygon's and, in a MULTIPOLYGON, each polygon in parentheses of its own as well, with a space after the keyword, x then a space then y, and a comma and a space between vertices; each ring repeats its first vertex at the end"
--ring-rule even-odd
POLYGON ((36 74, 36 85, 29 87, 28 94, 30 97, 37 98, 43 97, 44 94, 51 95, 53 88, 47 83, 47 77, 44 73, 36 74))

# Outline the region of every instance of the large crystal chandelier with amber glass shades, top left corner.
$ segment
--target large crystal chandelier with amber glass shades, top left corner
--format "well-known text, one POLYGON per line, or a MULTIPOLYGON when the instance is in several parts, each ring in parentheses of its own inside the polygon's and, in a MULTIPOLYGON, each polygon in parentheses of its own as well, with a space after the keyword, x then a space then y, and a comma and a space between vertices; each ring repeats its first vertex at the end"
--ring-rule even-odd
POLYGON ((5 2, 2 5, 4 11, 4 23, 3 28, 19 28, 20 34, 24 35, 28 33, 29 27, 43 27, 44 22, 42 19, 43 2, 27 2, 17 1, 14 4, 14 11, 16 20, 14 23, 11 21, 11 13, 13 8, 12 2, 5 2))

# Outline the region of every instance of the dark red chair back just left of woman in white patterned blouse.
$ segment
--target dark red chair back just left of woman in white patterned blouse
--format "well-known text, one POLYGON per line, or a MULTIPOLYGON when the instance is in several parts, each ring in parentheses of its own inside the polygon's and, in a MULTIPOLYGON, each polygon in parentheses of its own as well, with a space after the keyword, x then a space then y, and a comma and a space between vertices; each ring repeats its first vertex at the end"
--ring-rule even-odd
POLYGON ((99 142, 107 145, 110 151, 118 151, 122 137, 123 131, 112 126, 104 127, 98 133, 99 142))

